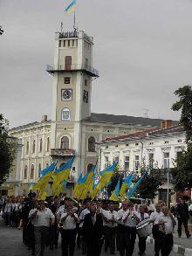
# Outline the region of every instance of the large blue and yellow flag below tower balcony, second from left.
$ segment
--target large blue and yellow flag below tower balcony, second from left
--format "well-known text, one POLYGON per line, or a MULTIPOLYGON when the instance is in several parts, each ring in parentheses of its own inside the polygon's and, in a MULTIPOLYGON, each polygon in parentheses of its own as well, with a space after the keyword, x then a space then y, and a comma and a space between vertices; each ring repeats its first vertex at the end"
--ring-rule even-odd
POLYGON ((52 174, 53 183, 51 185, 51 190, 53 196, 58 196, 62 191, 64 186, 69 179, 69 174, 72 168, 74 157, 72 157, 67 163, 63 164, 58 170, 52 174))

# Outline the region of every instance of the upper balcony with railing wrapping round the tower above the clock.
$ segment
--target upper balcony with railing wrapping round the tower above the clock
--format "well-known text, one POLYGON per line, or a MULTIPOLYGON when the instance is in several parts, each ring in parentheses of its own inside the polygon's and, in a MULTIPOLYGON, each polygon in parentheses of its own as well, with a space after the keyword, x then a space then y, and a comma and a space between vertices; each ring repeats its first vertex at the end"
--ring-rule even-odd
POLYGON ((46 71, 48 73, 56 73, 56 72, 77 72, 77 71, 81 71, 81 72, 85 72, 89 75, 91 75, 92 77, 99 77, 99 71, 95 68, 93 68, 93 66, 88 66, 86 64, 72 64, 69 66, 65 66, 65 65, 47 65, 46 66, 46 71))

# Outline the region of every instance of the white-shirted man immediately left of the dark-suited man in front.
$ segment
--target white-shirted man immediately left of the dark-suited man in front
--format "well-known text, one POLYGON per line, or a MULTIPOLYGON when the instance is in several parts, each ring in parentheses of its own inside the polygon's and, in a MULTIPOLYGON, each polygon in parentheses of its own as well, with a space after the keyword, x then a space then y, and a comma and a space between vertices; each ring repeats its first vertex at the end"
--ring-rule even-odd
POLYGON ((72 204, 67 205, 66 212, 61 215, 60 222, 63 224, 61 230, 62 256, 72 256, 77 235, 76 224, 79 223, 78 215, 72 210, 72 204))

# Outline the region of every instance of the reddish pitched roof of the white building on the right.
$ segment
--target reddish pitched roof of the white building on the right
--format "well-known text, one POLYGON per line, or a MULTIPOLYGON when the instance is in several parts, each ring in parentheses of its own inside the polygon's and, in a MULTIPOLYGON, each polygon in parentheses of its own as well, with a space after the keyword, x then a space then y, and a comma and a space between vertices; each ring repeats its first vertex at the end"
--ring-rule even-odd
POLYGON ((127 141, 128 139, 144 139, 144 138, 154 138, 163 135, 178 135, 184 132, 184 128, 181 124, 171 126, 169 128, 152 128, 147 129, 141 132, 136 132, 134 134, 120 135, 116 137, 106 138, 105 140, 99 143, 107 142, 122 142, 127 141))

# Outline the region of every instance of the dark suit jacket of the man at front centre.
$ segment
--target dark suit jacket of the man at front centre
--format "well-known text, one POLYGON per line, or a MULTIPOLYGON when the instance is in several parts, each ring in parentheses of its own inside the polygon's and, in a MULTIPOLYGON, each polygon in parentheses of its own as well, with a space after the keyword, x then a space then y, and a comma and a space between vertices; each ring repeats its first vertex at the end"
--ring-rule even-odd
POLYGON ((83 234, 86 242, 94 243, 102 239, 103 219, 100 214, 96 213, 96 222, 93 225, 91 213, 86 214, 83 224, 83 234))

